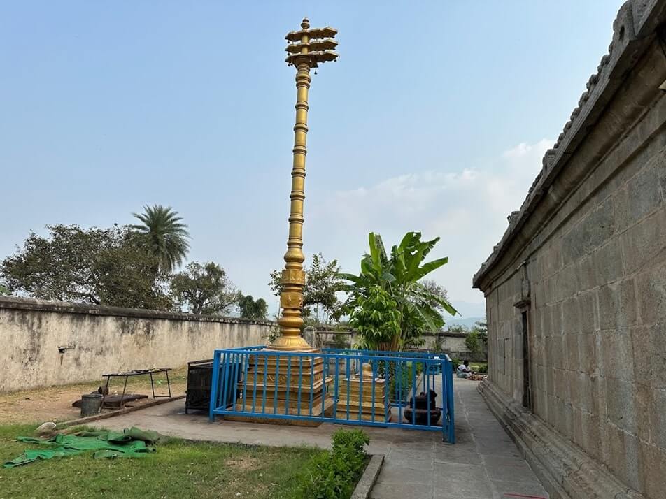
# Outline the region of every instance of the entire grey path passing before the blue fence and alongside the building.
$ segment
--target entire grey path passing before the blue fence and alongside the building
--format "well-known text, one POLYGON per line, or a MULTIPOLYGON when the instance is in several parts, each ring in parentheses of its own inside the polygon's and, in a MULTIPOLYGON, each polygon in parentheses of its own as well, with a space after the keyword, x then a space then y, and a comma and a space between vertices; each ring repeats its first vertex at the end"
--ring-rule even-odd
MULTIPOLYGON (((364 428, 372 454, 385 463, 372 491, 376 499, 541 499, 548 494, 476 392, 476 382, 456 379, 457 443, 441 442, 440 432, 364 428)), ((298 428, 232 421, 208 422, 204 414, 185 414, 183 400, 150 407, 94 424, 112 429, 139 426, 165 435, 277 447, 330 447, 339 425, 298 428)))

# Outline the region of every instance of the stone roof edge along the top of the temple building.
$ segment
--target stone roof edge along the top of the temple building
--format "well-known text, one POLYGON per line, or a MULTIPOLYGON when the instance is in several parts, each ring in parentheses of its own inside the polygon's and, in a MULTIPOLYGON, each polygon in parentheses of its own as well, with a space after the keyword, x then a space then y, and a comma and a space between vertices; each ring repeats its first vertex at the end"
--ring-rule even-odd
POLYGON ((581 95, 578 106, 572 111, 555 145, 544 154, 541 171, 527 191, 520 210, 511 212, 509 227, 504 236, 474 275, 474 287, 479 287, 483 277, 520 231, 539 200, 547 194, 548 187, 611 100, 621 83, 621 75, 625 75, 628 67, 637 61, 638 46, 644 45, 641 41, 653 37, 658 24, 664 20, 666 0, 628 0, 621 6, 613 22, 613 39, 608 46, 608 53, 601 58, 597 72, 590 76, 586 91, 581 95))

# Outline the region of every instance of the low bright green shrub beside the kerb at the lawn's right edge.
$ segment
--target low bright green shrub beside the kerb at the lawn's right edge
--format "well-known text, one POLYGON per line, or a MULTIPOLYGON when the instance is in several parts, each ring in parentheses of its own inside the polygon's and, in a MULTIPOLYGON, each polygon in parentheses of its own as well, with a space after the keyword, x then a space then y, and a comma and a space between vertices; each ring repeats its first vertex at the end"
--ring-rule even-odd
POLYGON ((332 450, 317 454, 300 477, 297 497, 312 499, 349 498, 365 468, 365 446, 370 438, 361 430, 339 430, 333 434, 332 450))

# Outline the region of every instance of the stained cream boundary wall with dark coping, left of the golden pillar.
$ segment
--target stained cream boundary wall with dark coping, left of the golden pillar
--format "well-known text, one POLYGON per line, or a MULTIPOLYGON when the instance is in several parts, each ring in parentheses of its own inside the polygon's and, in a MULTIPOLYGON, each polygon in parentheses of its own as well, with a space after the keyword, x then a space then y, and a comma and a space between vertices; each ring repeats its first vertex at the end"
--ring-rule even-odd
POLYGON ((0 393, 176 368, 215 348, 262 345, 271 322, 0 298, 0 393))

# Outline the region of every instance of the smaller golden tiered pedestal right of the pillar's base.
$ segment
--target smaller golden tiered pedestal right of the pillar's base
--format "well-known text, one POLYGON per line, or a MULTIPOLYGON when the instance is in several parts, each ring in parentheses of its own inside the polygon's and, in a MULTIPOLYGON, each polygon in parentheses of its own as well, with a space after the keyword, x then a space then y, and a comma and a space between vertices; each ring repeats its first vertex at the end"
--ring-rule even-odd
POLYGON ((359 414, 362 421, 373 421, 373 419, 375 423, 391 421, 386 380, 374 378, 370 364, 363 364, 360 375, 351 375, 348 379, 340 377, 338 381, 336 417, 358 421, 359 414))

